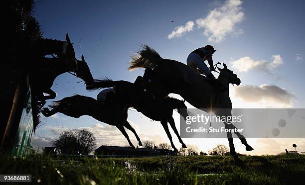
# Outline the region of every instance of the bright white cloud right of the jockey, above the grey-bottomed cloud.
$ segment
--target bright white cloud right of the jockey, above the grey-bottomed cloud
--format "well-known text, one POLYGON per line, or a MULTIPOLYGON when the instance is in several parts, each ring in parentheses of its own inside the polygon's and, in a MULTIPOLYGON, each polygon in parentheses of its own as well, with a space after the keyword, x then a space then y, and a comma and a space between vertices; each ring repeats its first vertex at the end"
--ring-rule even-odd
POLYGON ((273 74, 273 70, 283 64, 283 59, 281 55, 273 55, 272 59, 273 60, 271 62, 268 62, 267 60, 255 61, 250 57, 242 57, 236 61, 232 61, 231 66, 232 68, 237 69, 239 72, 258 70, 261 72, 273 74))

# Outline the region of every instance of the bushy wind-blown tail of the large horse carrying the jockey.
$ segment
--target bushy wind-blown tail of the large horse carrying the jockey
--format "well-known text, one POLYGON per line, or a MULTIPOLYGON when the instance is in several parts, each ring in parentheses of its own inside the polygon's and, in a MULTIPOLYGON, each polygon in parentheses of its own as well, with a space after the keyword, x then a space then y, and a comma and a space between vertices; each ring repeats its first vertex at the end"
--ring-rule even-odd
POLYGON ((138 52, 138 56, 132 57, 129 70, 136 68, 148 68, 153 69, 162 60, 162 57, 148 45, 143 45, 142 50, 138 52))

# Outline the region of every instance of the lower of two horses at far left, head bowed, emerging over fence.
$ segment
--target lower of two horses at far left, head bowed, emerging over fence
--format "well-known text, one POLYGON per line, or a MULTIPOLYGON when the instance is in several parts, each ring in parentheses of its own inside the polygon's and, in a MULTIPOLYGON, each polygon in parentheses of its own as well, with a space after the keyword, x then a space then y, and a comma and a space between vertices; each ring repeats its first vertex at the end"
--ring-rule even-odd
MULTIPOLYGON (((41 65, 37 70, 30 73, 31 76, 31 88, 34 94, 34 98, 39 101, 39 104, 44 105, 46 99, 53 99, 56 97, 56 93, 51 90, 53 82, 59 75, 69 72, 62 66, 62 60, 57 58, 44 58, 41 61, 41 65), (49 95, 44 96, 44 93, 49 95)), ((86 85, 94 83, 94 79, 91 75, 90 69, 85 62, 84 56, 82 60, 76 60, 77 70, 74 71, 76 76, 85 81, 86 85)))

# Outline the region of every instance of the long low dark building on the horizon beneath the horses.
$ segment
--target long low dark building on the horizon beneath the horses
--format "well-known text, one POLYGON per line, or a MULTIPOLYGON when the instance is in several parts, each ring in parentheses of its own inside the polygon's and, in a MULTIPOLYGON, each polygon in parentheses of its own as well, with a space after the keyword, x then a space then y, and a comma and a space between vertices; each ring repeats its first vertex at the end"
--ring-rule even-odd
MULTIPOLYGON (((169 152, 171 150, 166 150, 169 152)), ((107 146, 102 145, 95 150, 95 155, 108 155, 108 156, 160 156, 168 155, 162 149, 151 148, 137 148, 134 150, 132 147, 120 147, 120 146, 107 146)))

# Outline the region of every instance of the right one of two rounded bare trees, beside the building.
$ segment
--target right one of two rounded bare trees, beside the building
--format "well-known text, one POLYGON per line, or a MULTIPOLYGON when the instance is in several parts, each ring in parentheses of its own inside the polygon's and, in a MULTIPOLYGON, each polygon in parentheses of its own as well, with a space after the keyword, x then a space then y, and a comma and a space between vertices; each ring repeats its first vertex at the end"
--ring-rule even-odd
POLYGON ((78 151, 80 153, 92 153, 96 149, 96 141, 89 130, 79 130, 75 133, 78 151))

